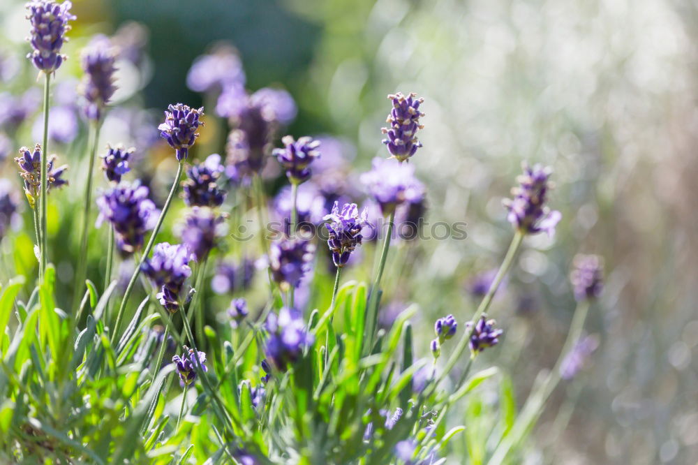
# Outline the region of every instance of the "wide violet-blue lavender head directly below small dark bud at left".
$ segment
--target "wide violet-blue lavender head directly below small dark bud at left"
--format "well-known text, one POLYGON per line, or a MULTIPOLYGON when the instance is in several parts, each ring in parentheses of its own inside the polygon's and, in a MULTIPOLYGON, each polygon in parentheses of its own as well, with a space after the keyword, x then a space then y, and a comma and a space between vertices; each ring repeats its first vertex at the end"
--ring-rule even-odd
POLYGON ((114 228, 114 237, 122 255, 131 254, 143 246, 145 232, 155 227, 158 209, 148 198, 148 188, 138 182, 122 182, 97 198, 97 226, 104 220, 114 228))

